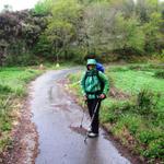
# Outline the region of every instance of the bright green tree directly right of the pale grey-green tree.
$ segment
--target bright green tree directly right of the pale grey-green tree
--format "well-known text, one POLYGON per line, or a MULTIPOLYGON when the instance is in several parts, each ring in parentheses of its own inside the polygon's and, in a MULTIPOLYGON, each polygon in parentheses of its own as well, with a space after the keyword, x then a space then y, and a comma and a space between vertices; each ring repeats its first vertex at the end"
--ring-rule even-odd
POLYGON ((139 21, 134 17, 125 19, 120 13, 117 14, 114 30, 114 43, 116 49, 143 51, 144 33, 141 31, 139 21))

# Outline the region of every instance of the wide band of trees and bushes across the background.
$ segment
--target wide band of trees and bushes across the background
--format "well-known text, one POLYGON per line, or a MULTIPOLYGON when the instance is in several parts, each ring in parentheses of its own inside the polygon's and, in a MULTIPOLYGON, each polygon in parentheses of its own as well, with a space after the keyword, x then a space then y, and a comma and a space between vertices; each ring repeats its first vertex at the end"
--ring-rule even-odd
POLYGON ((141 55, 163 60, 163 25, 159 0, 43 0, 30 11, 5 9, 0 65, 36 65, 35 56, 81 62, 89 51, 104 61, 141 55))

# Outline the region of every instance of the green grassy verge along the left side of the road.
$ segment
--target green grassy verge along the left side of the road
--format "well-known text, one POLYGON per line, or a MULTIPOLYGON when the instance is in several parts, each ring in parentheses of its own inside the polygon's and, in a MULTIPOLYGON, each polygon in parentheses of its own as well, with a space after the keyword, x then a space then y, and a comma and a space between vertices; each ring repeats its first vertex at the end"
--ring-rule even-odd
POLYGON ((40 73, 40 70, 23 67, 0 69, 0 152, 11 144, 10 131, 16 119, 13 116, 15 101, 26 95, 27 83, 40 73))

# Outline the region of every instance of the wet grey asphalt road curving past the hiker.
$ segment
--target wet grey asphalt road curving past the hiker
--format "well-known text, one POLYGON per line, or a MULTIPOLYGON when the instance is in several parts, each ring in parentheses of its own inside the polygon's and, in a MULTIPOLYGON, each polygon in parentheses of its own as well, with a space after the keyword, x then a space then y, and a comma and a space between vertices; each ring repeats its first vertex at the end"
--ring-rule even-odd
MULTIPOLYGON (((31 108, 39 137, 35 163, 130 164, 105 139, 103 130, 98 138, 87 139, 87 144, 84 144, 84 133, 73 130, 79 128, 83 112, 57 81, 74 71, 48 71, 32 83, 31 108)), ((90 118, 85 115, 83 127, 89 125, 90 118)))

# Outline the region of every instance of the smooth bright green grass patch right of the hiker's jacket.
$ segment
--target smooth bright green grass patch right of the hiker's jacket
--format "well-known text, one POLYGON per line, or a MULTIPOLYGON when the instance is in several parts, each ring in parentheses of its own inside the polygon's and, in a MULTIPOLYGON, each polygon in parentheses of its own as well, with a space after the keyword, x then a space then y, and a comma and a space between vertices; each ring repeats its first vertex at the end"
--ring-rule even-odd
POLYGON ((164 82, 154 78, 154 72, 127 70, 109 74, 113 77, 116 87, 124 92, 138 93, 141 89, 150 89, 164 93, 164 82))

